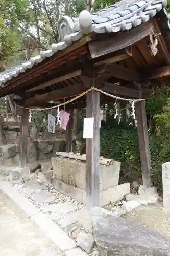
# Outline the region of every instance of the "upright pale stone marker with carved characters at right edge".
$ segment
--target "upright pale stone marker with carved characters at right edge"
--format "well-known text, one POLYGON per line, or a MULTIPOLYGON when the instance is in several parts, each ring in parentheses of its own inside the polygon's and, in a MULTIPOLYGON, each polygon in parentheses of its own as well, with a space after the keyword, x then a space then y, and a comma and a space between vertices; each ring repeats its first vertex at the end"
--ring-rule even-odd
POLYGON ((170 211, 170 162, 162 164, 163 207, 170 211))

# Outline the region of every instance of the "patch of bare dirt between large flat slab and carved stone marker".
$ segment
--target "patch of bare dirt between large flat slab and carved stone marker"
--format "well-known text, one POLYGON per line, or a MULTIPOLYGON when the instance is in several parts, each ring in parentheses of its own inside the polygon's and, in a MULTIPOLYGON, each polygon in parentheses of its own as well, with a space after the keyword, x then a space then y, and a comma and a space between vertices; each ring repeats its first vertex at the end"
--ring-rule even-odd
POLYGON ((129 212, 125 218, 135 224, 162 234, 162 236, 170 241, 170 213, 165 212, 159 206, 141 206, 129 212))

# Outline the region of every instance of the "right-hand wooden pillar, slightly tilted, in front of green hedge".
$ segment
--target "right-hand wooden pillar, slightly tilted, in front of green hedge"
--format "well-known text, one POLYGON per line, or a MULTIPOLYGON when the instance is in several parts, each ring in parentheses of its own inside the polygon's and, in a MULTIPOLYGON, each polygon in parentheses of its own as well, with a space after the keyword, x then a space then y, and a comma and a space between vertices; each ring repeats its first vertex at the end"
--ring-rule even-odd
POLYGON ((147 129, 145 101, 136 102, 136 119, 137 119, 137 131, 138 131, 138 138, 139 138, 142 181, 143 181, 143 186, 149 187, 151 185, 151 178, 150 178, 151 156, 150 156, 150 148, 149 148, 149 136, 148 136, 148 129, 147 129))

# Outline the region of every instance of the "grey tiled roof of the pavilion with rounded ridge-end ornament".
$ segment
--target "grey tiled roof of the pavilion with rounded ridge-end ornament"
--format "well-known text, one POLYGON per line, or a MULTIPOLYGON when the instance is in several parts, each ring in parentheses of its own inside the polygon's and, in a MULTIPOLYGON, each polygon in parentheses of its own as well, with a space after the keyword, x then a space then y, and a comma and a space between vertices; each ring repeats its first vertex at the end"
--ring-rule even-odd
POLYGON ((88 11, 82 11, 79 18, 63 16, 58 20, 57 25, 60 42, 52 44, 51 49, 42 51, 40 55, 32 57, 14 70, 0 74, 0 86, 32 68, 46 57, 64 50, 72 42, 92 31, 95 33, 111 33, 130 30, 143 22, 147 22, 160 11, 162 16, 166 18, 167 28, 169 29, 170 14, 167 14, 165 10, 166 5, 166 0, 122 0, 96 13, 90 14, 88 11))

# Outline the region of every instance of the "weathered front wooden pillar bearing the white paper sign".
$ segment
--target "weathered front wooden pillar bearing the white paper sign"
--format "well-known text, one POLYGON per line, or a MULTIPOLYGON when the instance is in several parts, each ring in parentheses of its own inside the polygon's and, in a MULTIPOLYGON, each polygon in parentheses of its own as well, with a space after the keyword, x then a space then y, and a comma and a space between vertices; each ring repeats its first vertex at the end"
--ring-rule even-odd
POLYGON ((86 195, 87 207, 100 206, 100 93, 87 93, 86 117, 94 118, 93 139, 86 139, 86 195))

